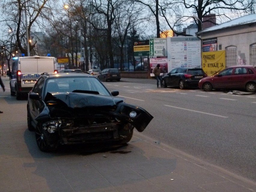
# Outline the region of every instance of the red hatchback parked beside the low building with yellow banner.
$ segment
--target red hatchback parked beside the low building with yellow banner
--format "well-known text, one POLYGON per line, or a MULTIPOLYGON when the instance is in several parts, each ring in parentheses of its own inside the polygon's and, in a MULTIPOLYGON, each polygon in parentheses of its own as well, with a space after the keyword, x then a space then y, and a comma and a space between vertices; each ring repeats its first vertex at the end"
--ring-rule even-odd
POLYGON ((256 66, 232 66, 221 72, 202 78, 198 84, 200 89, 245 89, 256 92, 256 66))

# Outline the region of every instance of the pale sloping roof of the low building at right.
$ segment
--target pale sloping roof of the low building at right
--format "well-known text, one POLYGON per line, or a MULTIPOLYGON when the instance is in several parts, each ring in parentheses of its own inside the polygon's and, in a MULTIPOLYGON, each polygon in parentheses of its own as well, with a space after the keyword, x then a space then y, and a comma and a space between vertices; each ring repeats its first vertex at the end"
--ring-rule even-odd
POLYGON ((198 32, 197 34, 199 35, 199 34, 206 33, 206 32, 212 32, 215 30, 226 29, 226 28, 250 24, 250 23, 256 23, 256 14, 248 14, 243 17, 239 17, 239 18, 227 21, 225 23, 221 23, 219 25, 209 27, 207 29, 204 29, 204 30, 198 32))

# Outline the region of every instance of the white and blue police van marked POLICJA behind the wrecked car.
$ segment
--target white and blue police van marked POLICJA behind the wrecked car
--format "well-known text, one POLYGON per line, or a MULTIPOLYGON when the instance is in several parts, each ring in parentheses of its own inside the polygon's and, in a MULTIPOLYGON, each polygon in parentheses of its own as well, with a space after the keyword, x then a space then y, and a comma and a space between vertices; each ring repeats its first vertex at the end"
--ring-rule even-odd
POLYGON ((55 57, 23 56, 13 60, 11 74, 8 75, 11 76, 11 96, 21 99, 44 72, 57 73, 55 57))

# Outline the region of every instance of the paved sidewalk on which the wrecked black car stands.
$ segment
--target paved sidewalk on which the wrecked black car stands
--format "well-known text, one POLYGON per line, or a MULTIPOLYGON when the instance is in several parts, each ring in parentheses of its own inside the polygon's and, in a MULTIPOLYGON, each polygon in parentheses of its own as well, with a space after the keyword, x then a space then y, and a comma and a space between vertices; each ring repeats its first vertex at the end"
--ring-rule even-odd
POLYGON ((35 132, 27 129, 26 100, 10 96, 9 78, 2 80, 6 91, 0 90, 1 192, 256 192, 254 181, 137 131, 125 146, 65 146, 43 153, 35 132))

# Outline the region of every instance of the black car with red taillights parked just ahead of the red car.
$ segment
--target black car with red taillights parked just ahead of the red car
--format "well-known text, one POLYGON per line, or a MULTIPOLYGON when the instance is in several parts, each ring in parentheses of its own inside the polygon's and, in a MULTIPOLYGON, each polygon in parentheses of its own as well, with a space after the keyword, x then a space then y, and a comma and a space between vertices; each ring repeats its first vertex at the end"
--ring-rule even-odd
POLYGON ((163 86, 179 87, 198 87, 200 79, 207 77, 207 74, 201 68, 175 68, 162 76, 163 86))

